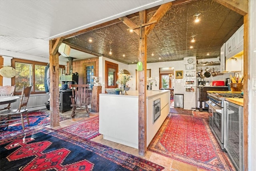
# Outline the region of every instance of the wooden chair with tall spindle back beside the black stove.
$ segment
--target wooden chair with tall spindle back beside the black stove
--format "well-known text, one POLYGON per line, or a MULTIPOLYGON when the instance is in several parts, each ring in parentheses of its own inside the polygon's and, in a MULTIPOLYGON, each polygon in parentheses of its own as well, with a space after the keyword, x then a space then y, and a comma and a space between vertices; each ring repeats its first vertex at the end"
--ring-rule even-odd
POLYGON ((74 117, 75 113, 78 111, 86 111, 86 116, 89 116, 89 108, 90 105, 88 94, 89 85, 88 84, 71 84, 72 87, 72 96, 71 98, 71 107, 72 114, 71 117, 74 117), (79 108, 79 109, 78 109, 79 108))

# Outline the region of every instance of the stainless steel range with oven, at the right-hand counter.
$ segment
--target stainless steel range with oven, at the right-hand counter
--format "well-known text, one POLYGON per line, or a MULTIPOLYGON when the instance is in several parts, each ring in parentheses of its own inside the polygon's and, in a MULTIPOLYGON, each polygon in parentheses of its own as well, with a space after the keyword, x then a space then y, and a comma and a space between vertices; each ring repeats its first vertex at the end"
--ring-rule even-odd
POLYGON ((225 97, 243 98, 240 93, 208 93, 209 99, 209 125, 212 133, 216 137, 220 147, 224 149, 224 142, 226 142, 226 125, 224 116, 224 100, 225 97))

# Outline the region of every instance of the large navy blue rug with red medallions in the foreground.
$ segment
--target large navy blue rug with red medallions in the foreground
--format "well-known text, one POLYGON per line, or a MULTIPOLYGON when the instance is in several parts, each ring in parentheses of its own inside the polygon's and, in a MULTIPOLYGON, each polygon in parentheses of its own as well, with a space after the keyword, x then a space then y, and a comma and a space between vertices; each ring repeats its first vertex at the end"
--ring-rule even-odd
POLYGON ((164 167, 50 128, 0 140, 1 171, 161 171, 164 167))

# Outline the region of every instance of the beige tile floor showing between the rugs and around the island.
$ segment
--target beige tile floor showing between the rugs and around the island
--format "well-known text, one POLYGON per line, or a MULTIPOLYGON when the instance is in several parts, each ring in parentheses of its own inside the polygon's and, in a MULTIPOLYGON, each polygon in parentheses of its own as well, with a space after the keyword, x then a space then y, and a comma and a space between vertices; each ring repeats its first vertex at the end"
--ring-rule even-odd
MULTIPOLYGON (((171 103, 171 107, 174 107, 173 102, 171 103)), ((60 115, 71 115, 70 113, 71 113, 71 111, 66 111, 64 113, 60 112, 60 115)), ((89 117, 84 117, 84 115, 82 115, 80 113, 77 113, 74 118, 61 121, 59 126, 52 127, 52 129, 60 129, 62 127, 66 127, 66 126, 75 124, 75 123, 80 122, 82 120, 89 119, 89 118, 94 117, 96 115, 98 115, 98 113, 91 113, 89 117)), ((162 155, 157 154, 157 153, 153 153, 151 151, 147 151, 144 157, 140 156, 140 155, 138 155, 138 149, 134 149, 134 148, 128 147, 126 145, 122 145, 122 144, 119 144, 119 143, 115 143, 115 142, 112 142, 112 141, 105 140, 105 139, 103 139, 103 135, 99 135, 98 137, 95 137, 94 139, 91 139, 91 141, 95 141, 97 143, 107 145, 107 146, 112 147, 114 149, 119 149, 119 150, 124 151, 126 153, 129 153, 129 154, 147 159, 149 161, 152 161, 156 164, 159 164, 159 165, 163 166, 165 168, 164 171, 204 171, 204 169, 199 169, 199 168, 197 168, 193 165, 182 163, 180 161, 170 159, 168 157, 162 156, 162 155)))

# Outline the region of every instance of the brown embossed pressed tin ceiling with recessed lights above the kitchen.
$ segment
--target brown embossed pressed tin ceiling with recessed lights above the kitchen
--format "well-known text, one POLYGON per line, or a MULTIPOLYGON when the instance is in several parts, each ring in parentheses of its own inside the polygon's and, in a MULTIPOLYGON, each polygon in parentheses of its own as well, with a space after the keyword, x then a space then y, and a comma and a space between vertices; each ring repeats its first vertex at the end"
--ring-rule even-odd
MULTIPOLYGON (((154 12, 147 13, 147 20, 154 12)), ((130 16, 130 20, 138 25, 138 14, 130 16)), ((214 0, 196 0, 172 6, 148 34, 147 62, 176 61, 188 56, 216 58, 220 56, 222 44, 242 24, 242 15, 214 0), (198 12, 201 13, 198 17, 200 22, 195 23, 194 14, 198 12), (191 36, 196 42, 191 43, 191 36), (194 48, 190 49, 190 46, 194 48)), ((119 20, 116 24, 67 38, 63 42, 90 54, 133 64, 138 62, 139 37, 127 29, 128 26, 119 20), (92 42, 88 41, 90 38, 92 42), (109 54, 110 49, 112 55, 109 54)))

